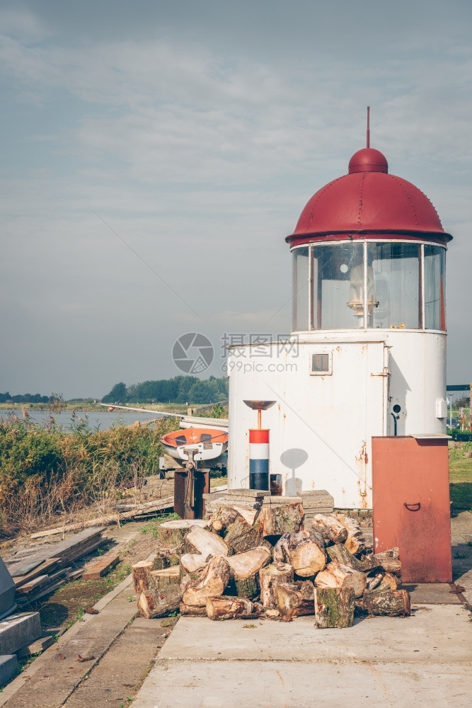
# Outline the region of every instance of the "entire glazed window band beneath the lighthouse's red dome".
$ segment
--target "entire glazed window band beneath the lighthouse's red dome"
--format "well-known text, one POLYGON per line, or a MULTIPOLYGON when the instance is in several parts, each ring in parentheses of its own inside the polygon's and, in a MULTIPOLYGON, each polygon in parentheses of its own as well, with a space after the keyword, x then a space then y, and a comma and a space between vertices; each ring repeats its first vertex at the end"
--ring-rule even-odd
POLYGON ((312 244, 293 253, 293 331, 446 330, 442 246, 312 244))

